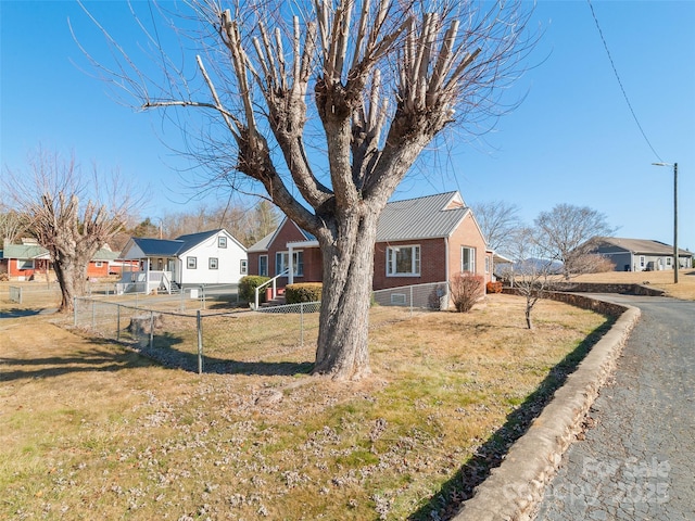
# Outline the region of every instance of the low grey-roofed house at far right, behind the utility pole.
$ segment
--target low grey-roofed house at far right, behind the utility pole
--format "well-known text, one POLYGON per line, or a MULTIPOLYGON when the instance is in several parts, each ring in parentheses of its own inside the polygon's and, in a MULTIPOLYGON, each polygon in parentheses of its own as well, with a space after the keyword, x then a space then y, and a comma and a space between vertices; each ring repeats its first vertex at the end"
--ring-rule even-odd
MULTIPOLYGON (((597 253, 616 265, 616 271, 660 271, 673 269, 673 246, 645 239, 603 237, 594 239, 597 253)), ((679 266, 691 267, 693 254, 686 250, 678 253, 679 266)))

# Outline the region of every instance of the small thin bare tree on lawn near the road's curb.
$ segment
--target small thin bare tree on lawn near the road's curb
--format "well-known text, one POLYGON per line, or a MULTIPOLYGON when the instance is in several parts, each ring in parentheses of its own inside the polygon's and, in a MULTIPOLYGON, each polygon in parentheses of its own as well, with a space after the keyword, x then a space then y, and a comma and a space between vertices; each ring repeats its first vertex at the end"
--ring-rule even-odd
POLYGON ((556 264, 552 259, 543 258, 545 247, 539 230, 533 228, 523 227, 513 231, 507 253, 513 262, 498 265, 497 274, 526 300, 526 326, 528 329, 533 329, 531 313, 552 283, 556 264))

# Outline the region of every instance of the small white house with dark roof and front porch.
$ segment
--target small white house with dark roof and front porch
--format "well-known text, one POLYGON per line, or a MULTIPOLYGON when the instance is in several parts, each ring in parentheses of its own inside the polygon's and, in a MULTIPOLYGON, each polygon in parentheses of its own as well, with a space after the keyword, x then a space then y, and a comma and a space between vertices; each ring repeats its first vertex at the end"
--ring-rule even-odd
POLYGON ((247 249, 227 230, 210 230, 176 239, 128 240, 121 258, 137 260, 124 271, 118 293, 170 291, 176 287, 236 284, 247 275, 247 249))

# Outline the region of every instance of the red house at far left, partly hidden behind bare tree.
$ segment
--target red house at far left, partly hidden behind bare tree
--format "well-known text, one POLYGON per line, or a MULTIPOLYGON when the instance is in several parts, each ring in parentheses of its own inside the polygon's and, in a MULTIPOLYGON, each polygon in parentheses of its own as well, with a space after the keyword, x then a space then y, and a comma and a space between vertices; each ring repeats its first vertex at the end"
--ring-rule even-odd
MULTIPOLYGON (((36 241, 24 240, 23 244, 3 245, 0 252, 0 272, 5 272, 10 278, 17 280, 31 280, 38 275, 46 275, 51 269, 51 258, 48 250, 39 246, 36 241)), ((111 263, 116 259, 117 253, 108 246, 99 250, 87 265, 87 277, 106 277, 111 263)))

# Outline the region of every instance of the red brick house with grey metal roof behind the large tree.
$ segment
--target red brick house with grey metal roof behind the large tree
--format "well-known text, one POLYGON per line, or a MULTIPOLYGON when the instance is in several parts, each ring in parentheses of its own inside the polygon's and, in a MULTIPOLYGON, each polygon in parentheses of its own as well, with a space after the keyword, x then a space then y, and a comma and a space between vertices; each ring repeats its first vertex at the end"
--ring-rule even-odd
MULTIPOLYGON (((491 280, 492 252, 458 192, 387 204, 375 245, 375 290, 448 282, 470 271, 491 280)), ((249 274, 275 277, 280 287, 321 281, 318 241, 292 220, 249 247, 249 274)))

